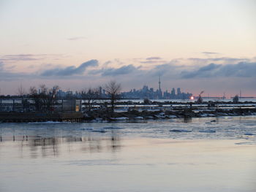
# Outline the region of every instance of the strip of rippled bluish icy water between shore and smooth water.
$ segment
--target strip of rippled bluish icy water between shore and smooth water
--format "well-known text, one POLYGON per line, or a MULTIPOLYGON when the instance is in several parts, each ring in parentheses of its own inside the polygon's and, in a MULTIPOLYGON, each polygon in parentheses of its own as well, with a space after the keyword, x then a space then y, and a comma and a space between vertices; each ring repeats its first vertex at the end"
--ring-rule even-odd
POLYGON ((137 120, 134 123, 0 123, 3 140, 12 137, 118 137, 162 139, 256 139, 256 118, 223 117, 137 120), (173 131, 178 130, 178 131, 173 131), (203 131, 212 133, 202 134, 203 131), (251 135, 250 135, 251 134, 251 135))

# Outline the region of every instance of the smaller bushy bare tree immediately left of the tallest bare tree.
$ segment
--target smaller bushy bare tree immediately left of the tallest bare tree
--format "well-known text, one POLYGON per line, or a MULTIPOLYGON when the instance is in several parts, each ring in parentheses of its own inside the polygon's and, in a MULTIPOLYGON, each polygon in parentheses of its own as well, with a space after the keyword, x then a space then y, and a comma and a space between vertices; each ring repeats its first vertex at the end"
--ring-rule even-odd
POLYGON ((98 88, 88 88, 82 91, 82 98, 86 104, 86 111, 91 111, 92 104, 95 100, 99 99, 99 89, 98 88))

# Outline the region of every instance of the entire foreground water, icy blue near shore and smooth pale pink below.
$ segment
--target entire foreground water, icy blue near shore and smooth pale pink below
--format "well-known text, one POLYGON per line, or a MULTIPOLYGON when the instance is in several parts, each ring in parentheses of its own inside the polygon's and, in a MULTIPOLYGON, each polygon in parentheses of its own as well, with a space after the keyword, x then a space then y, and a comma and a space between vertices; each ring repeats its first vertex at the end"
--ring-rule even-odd
POLYGON ((0 191, 256 191, 256 117, 0 123, 0 191))

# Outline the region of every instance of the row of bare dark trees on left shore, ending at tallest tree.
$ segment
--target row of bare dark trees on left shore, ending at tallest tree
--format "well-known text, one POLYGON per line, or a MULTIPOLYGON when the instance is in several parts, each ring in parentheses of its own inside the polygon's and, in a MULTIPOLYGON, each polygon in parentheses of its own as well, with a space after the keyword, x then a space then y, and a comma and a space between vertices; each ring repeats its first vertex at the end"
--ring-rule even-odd
MULTIPOLYGON (((110 104, 110 111, 113 112, 116 101, 121 99, 121 84, 116 80, 103 85, 105 93, 110 102, 105 102, 105 108, 108 108, 110 104)), ((34 110, 41 112, 50 112, 54 110, 54 107, 58 104, 59 99, 77 99, 75 97, 68 96, 67 98, 61 98, 58 96, 59 85, 54 85, 53 88, 48 88, 46 85, 39 85, 39 87, 31 86, 27 92, 22 85, 18 88, 18 96, 7 99, 22 99, 23 107, 29 107, 29 99, 33 101, 34 110)), ((80 92, 80 98, 83 100, 85 110, 91 111, 95 101, 102 99, 100 88, 83 88, 80 92)))

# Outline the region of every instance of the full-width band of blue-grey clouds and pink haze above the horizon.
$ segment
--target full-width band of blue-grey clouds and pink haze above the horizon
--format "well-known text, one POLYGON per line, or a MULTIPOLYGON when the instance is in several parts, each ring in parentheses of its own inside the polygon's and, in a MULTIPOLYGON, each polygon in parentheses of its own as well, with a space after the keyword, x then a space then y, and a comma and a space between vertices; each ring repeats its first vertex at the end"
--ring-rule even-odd
POLYGON ((15 83, 19 85, 20 80, 26 82, 27 87, 31 83, 56 84, 57 80, 61 88, 72 87, 74 90, 78 90, 84 86, 102 85, 110 78, 116 78, 124 85, 124 89, 129 89, 140 88, 142 85, 157 86, 158 76, 161 75, 163 89, 173 86, 186 88, 190 92, 208 89, 213 93, 217 93, 219 90, 226 91, 226 93, 227 90, 233 90, 235 93, 236 89, 243 88, 243 91, 255 93, 253 82, 256 80, 256 62, 253 59, 241 61, 241 58, 221 57, 196 58, 195 60, 177 58, 162 64, 138 66, 143 60, 146 61, 146 58, 138 61, 133 59, 132 61, 113 60, 102 62, 101 66, 97 60, 91 60, 80 66, 67 67, 40 65, 33 62, 34 69, 37 71, 31 73, 25 72, 25 69, 23 72, 15 72, 10 69, 13 64, 0 61, 0 83, 1 88, 5 86, 5 89, 11 90, 10 85, 15 85, 15 83), (93 68, 92 66, 98 67, 93 68))

